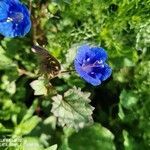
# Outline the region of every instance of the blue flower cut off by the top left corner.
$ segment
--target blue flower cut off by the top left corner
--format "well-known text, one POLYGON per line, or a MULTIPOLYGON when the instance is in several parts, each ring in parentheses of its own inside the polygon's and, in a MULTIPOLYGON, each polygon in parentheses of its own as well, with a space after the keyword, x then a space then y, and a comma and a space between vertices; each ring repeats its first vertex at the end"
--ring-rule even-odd
POLYGON ((0 34, 24 36, 31 28, 29 10, 19 0, 0 0, 0 34))

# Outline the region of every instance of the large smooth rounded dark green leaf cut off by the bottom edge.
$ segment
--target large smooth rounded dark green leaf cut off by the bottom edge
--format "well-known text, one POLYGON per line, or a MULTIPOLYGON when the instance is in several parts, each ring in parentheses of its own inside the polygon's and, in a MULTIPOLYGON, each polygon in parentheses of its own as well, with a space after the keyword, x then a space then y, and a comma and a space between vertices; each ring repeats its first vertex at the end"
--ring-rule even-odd
POLYGON ((114 136, 99 124, 84 128, 68 139, 71 150, 115 150, 114 136))

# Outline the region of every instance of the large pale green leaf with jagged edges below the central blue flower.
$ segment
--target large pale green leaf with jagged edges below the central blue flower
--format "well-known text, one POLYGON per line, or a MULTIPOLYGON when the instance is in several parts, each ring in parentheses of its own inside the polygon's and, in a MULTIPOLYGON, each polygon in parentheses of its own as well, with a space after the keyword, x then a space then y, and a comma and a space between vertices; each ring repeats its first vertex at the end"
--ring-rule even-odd
POLYGON ((81 89, 69 89, 64 95, 52 97, 51 112, 58 118, 58 124, 61 126, 83 128, 93 122, 93 107, 89 105, 90 93, 83 93, 81 89))

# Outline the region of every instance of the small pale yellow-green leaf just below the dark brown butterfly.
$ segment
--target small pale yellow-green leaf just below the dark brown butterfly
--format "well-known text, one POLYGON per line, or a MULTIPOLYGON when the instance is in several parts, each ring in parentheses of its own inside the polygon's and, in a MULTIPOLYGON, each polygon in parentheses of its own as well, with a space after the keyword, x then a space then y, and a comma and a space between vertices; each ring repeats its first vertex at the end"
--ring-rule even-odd
POLYGON ((44 79, 34 80, 30 83, 30 86, 34 89, 34 95, 47 95, 44 79))

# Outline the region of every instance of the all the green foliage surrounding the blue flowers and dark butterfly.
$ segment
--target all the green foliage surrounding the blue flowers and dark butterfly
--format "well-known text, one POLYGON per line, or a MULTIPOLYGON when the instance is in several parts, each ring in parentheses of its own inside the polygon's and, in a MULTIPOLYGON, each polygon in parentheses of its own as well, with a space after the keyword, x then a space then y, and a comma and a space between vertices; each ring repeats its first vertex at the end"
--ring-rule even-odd
POLYGON ((30 33, 0 37, 0 141, 21 141, 0 149, 150 149, 150 0, 21 1, 30 33), (96 88, 74 71, 41 77, 35 42, 62 71, 74 70, 80 45, 101 46, 112 77, 96 88))

